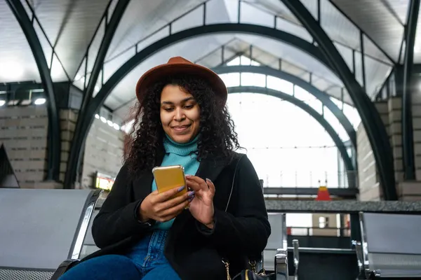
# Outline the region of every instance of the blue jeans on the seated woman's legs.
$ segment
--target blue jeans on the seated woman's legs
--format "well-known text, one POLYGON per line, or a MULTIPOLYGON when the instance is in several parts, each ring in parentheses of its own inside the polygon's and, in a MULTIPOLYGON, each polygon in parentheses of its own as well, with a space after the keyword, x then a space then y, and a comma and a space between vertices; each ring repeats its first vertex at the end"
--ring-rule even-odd
POLYGON ((163 255, 166 230, 155 230, 126 255, 102 255, 81 262, 60 280, 180 280, 163 255))

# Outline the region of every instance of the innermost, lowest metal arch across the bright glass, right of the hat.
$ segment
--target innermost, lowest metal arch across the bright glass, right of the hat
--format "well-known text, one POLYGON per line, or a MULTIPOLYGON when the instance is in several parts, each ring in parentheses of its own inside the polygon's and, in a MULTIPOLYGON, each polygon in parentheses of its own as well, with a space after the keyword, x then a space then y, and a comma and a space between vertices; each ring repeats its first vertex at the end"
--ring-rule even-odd
POLYGON ((347 147, 342 142, 342 140, 340 139, 339 135, 335 132, 333 127, 328 123, 328 121, 325 120, 323 116, 321 116, 321 114, 319 114, 316 110, 312 109, 311 106, 305 104, 305 102, 302 102, 300 99, 293 97, 290 94, 286 94, 285 92, 281 92, 279 90, 272 90, 267 87, 253 87, 253 86, 228 87, 228 92, 229 93, 249 92, 249 93, 266 94, 273 97, 278 97, 287 102, 290 102, 291 104, 294 104, 295 106, 300 107, 300 109, 309 113, 310 116, 312 116, 315 120, 317 120, 317 122, 320 123, 320 125, 326 130, 326 132, 328 132, 333 142, 335 142, 335 145, 338 147, 342 160, 344 161, 345 168, 347 169, 348 186, 349 188, 356 188, 356 182, 354 179, 354 174, 355 174, 356 169, 352 163, 351 158, 349 157, 349 154, 347 153, 347 147))

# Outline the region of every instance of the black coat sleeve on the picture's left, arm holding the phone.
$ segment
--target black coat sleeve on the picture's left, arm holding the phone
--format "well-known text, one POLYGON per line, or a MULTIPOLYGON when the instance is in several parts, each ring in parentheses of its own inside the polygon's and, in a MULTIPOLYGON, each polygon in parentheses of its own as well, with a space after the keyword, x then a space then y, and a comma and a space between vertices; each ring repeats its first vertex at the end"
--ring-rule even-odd
POLYGON ((138 221, 136 211, 142 200, 130 202, 131 180, 128 168, 124 165, 107 199, 95 217, 92 236, 96 246, 104 248, 127 237, 147 230, 145 223, 138 221))

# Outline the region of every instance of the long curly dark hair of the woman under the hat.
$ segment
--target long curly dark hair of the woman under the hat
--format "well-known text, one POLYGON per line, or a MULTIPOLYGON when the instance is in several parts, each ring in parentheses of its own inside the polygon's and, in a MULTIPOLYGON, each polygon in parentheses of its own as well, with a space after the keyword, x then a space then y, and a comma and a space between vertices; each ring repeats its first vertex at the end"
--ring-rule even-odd
POLYGON ((161 92, 166 85, 178 85, 192 94, 200 110, 197 160, 209 157, 231 160, 234 150, 240 148, 234 122, 226 106, 219 99, 209 83, 199 76, 180 75, 165 78, 147 90, 142 102, 133 110, 133 130, 126 141, 125 161, 132 174, 159 165, 158 155, 163 152, 164 132, 161 125, 161 92))

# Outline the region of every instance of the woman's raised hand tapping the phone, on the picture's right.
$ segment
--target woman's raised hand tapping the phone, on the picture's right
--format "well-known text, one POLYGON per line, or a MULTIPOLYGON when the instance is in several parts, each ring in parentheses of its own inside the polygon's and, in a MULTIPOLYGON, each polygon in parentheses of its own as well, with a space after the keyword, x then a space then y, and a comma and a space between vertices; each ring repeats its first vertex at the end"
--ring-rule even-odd
POLYGON ((190 213, 206 227, 213 228, 215 186, 209 179, 204 181, 198 176, 186 176, 186 183, 188 188, 194 190, 194 198, 189 204, 190 213))

